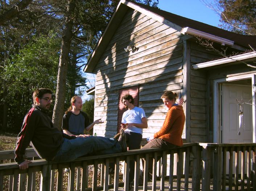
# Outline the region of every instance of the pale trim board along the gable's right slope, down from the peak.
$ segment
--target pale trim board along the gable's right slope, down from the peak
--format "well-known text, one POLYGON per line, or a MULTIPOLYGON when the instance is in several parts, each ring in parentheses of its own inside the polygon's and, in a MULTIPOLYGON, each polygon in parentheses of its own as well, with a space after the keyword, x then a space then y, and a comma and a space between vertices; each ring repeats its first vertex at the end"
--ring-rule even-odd
POLYGON ((181 30, 183 29, 182 27, 176 25, 175 23, 172 23, 172 22, 168 21, 167 19, 165 19, 163 17, 160 17, 159 15, 154 14, 154 13, 152 13, 152 12, 150 12, 150 11, 144 9, 144 8, 141 8, 140 6, 135 5, 135 4, 131 3, 131 2, 128 2, 126 0, 121 0, 120 3, 123 3, 123 4, 127 5, 127 6, 129 6, 130 8, 132 8, 134 10, 137 10, 140 13, 145 14, 146 16, 149 16, 149 17, 153 18, 153 19, 155 19, 156 21, 158 21, 160 23, 163 23, 163 24, 165 24, 165 25, 167 25, 169 27, 172 27, 173 29, 175 29, 175 30, 177 30, 179 32, 181 32, 181 30))

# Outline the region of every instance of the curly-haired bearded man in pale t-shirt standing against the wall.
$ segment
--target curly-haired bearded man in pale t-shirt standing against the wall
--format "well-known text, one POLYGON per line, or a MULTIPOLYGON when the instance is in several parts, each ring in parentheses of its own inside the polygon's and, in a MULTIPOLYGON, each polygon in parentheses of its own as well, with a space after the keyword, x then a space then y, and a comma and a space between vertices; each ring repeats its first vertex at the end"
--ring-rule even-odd
MULTIPOLYGON (((135 107, 133 97, 130 94, 126 94, 121 98, 125 109, 122 117, 121 127, 124 129, 126 136, 126 143, 129 150, 140 149, 140 143, 142 140, 143 129, 148 128, 146 121, 146 115, 142 108, 135 107)), ((134 161, 130 163, 129 182, 133 181, 134 177, 134 161)), ((130 186, 130 185, 129 185, 130 186)))

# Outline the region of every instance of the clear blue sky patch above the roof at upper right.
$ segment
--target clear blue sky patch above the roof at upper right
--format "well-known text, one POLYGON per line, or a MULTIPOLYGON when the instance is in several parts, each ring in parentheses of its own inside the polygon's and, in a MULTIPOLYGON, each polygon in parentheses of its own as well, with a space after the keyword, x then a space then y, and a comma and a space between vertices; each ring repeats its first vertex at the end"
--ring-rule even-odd
POLYGON ((218 27, 220 24, 219 16, 201 0, 159 0, 158 8, 208 25, 218 27))

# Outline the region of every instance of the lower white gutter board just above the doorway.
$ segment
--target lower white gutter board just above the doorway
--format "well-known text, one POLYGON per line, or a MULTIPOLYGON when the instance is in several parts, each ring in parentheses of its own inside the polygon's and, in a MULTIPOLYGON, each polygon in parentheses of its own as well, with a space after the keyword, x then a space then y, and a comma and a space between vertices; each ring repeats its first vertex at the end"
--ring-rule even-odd
POLYGON ((230 62, 236 62, 236 61, 240 61, 240 60, 246 60, 246 59, 250 59, 250 58, 256 58, 256 52, 249 52, 249 53, 245 53, 242 55, 237 55, 237 56, 231 56, 228 58, 222 58, 219 60, 213 60, 213 61, 209 61, 209 62, 203 62, 200 64, 194 64, 193 69, 200 69, 200 68, 207 68, 210 66, 217 66, 217 65, 221 65, 221 64, 227 64, 230 62))

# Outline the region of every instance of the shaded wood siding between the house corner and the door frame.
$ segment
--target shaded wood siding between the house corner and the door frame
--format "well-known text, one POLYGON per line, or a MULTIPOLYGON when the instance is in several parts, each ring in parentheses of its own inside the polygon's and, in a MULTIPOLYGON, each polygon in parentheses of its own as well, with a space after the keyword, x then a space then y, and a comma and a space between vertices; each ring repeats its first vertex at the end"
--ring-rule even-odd
MULTIPOLYGON (((198 64, 219 57, 198 43, 190 42, 190 62, 198 64)), ((190 142, 207 142, 209 107, 207 98, 207 71, 194 70, 190 75, 190 142)), ((209 140, 208 140, 209 141, 209 140)))

